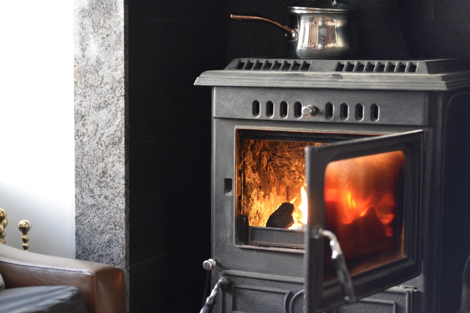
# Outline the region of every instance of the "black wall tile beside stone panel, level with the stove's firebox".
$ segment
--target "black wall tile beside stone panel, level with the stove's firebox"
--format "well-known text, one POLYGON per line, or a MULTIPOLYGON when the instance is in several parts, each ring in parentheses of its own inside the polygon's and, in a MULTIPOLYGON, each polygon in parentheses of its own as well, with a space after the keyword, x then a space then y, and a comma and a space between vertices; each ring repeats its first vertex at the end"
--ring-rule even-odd
POLYGON ((185 243, 188 155, 186 135, 130 146, 131 265, 185 243))

